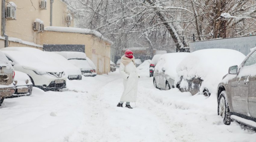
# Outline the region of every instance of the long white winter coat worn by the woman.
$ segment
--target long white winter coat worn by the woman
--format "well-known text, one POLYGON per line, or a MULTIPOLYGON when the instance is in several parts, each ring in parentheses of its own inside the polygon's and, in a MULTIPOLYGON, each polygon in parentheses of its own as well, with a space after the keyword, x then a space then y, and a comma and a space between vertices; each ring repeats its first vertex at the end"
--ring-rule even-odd
POLYGON ((124 86, 123 94, 120 101, 136 102, 139 75, 136 71, 136 66, 134 65, 134 62, 131 61, 126 66, 121 62, 119 72, 123 78, 124 86))

